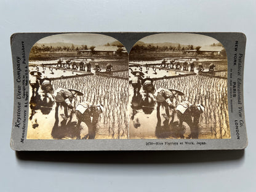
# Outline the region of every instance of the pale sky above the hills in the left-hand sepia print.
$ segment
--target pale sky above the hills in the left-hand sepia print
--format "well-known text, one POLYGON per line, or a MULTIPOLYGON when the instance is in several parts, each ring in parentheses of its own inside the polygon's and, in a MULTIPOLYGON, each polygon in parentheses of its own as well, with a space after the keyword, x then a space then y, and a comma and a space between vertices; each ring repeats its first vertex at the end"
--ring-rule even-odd
POLYGON ((37 43, 56 43, 56 42, 67 42, 75 45, 87 45, 87 46, 103 46, 108 42, 117 41, 110 36, 103 34, 90 34, 90 33, 66 33, 66 34, 55 34, 46 38, 40 39, 37 43))

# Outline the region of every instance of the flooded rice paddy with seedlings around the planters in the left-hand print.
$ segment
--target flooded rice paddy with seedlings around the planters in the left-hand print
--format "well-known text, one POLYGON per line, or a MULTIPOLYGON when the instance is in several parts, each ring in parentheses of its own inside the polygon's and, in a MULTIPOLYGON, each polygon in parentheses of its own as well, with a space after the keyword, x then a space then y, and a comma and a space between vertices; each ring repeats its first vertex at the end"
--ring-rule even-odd
MULTIPOLYGON (((66 59, 66 58, 65 58, 66 59)), ((85 61, 83 58, 70 58, 71 61, 85 61)), ((87 60, 88 61, 88 60, 87 60)), ((124 139, 129 137, 127 112, 128 102, 128 67, 126 60, 116 59, 92 59, 91 72, 58 68, 58 60, 31 61, 30 71, 39 71, 41 78, 52 79, 54 90, 76 89, 84 95, 78 96, 77 103, 90 102, 92 105, 101 104, 104 108, 100 114, 95 132, 95 139, 124 139), (95 74, 95 63, 98 62, 102 68, 100 73, 95 74), (106 72, 106 64, 111 62, 113 72, 106 72), (56 63, 54 65, 50 65, 56 63), (45 66, 43 67, 42 64, 45 66), (114 72, 116 71, 116 72, 114 72), (100 74, 106 74, 101 76, 100 74), (83 75, 83 76, 80 76, 83 75), (66 78, 65 78, 66 77, 66 78), (121 77, 121 78, 118 78, 121 77), (62 79, 63 78, 63 79, 62 79), (127 79, 125 79, 127 78, 127 79)), ((65 63, 65 60, 63 60, 65 63)), ((39 95, 42 90, 39 89, 39 95)), ((32 91, 30 89, 30 95, 32 91)), ((31 100, 34 98, 31 97, 31 100)), ((30 120, 28 121, 29 139, 82 139, 87 138, 88 127, 84 122, 76 127, 78 120, 76 115, 68 110, 70 118, 66 119, 64 108, 58 110, 58 121, 55 118, 56 103, 51 110, 30 108, 30 120)))

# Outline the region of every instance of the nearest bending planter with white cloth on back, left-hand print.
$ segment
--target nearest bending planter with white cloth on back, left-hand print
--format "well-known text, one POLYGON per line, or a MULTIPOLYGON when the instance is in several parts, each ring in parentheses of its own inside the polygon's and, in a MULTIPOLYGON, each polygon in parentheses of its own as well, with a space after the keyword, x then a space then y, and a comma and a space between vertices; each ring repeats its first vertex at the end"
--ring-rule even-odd
POLYGON ((98 118, 100 113, 103 113, 103 109, 102 105, 92 105, 89 102, 82 102, 76 106, 76 118, 78 119, 77 127, 80 127, 81 122, 85 122, 88 127, 89 139, 95 138, 98 118))

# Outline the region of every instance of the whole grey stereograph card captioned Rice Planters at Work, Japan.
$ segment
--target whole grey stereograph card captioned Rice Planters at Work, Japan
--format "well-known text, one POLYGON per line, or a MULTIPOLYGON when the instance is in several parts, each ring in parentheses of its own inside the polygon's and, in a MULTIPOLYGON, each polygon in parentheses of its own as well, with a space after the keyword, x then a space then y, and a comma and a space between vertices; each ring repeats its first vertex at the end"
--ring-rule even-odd
POLYGON ((15 33, 17 151, 246 148, 242 33, 15 33))

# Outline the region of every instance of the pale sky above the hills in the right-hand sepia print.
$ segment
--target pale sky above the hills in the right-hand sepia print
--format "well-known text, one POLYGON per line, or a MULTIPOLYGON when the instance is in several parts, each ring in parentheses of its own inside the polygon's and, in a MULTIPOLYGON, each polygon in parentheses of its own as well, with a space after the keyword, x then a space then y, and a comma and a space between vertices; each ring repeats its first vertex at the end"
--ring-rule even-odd
POLYGON ((216 39, 210 38, 209 36, 190 33, 153 34, 140 39, 140 41, 145 43, 174 42, 193 46, 209 46, 210 44, 216 44, 218 42, 216 39))

